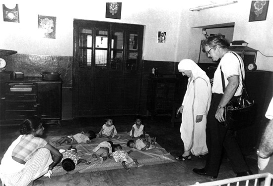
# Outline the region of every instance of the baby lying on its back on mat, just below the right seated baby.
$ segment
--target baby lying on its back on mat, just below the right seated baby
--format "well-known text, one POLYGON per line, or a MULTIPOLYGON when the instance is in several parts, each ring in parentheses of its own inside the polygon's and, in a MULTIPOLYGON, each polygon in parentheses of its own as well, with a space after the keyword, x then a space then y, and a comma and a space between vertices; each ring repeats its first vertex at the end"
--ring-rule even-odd
POLYGON ((139 138, 134 141, 133 139, 127 142, 127 146, 130 148, 136 148, 137 150, 150 150, 156 147, 156 137, 155 138, 139 138))

